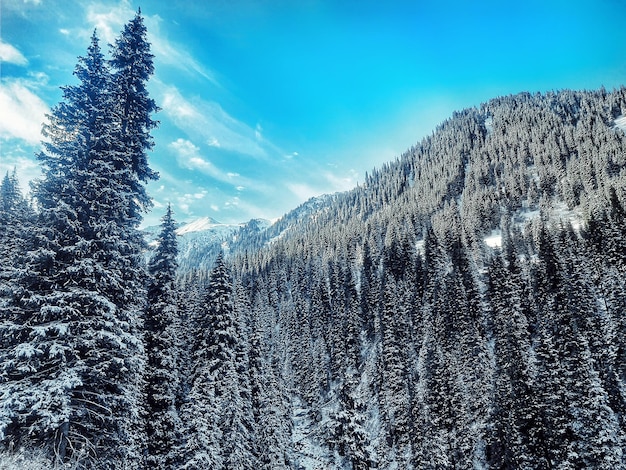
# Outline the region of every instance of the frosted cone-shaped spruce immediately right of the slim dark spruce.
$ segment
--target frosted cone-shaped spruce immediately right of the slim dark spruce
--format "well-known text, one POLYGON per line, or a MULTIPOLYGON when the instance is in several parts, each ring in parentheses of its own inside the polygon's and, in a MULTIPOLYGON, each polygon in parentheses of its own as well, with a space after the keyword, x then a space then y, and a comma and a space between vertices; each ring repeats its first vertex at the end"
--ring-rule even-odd
POLYGON ((183 468, 254 468, 250 396, 238 376, 245 365, 237 364, 246 356, 241 354, 233 281, 223 253, 211 271, 204 309, 194 323, 192 383, 183 410, 189 423, 183 468))

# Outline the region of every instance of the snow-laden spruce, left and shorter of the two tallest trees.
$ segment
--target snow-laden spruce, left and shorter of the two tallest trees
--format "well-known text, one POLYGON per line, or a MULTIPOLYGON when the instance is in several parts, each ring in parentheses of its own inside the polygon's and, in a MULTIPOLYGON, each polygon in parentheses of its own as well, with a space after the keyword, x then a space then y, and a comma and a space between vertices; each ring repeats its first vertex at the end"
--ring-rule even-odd
POLYGON ((8 424, 5 439, 26 447, 42 445, 60 460, 65 460, 70 447, 92 453, 98 443, 89 424, 107 421, 112 414, 108 404, 92 396, 81 394, 73 400, 84 384, 85 361, 77 344, 80 332, 75 329, 89 324, 83 319, 91 311, 110 306, 108 299, 97 298, 97 290, 91 292, 92 286, 81 285, 81 277, 89 282, 94 268, 102 269, 84 259, 92 240, 86 239, 81 224, 80 210, 89 208, 84 207, 78 186, 103 150, 110 130, 105 95, 109 76, 95 33, 87 56, 79 58, 75 75, 80 84, 63 89, 65 102, 53 108, 50 123, 44 127, 50 142, 39 156, 44 179, 35 186, 41 228, 35 235, 32 262, 19 280, 25 292, 15 299, 21 311, 9 318, 14 344, 2 364, 7 378, 3 409, 9 413, 9 421, 3 423, 8 424), (90 302, 87 296, 96 298, 90 302), (85 411, 88 431, 75 430, 73 421, 89 410, 83 406, 89 403, 96 409, 93 414, 85 411))

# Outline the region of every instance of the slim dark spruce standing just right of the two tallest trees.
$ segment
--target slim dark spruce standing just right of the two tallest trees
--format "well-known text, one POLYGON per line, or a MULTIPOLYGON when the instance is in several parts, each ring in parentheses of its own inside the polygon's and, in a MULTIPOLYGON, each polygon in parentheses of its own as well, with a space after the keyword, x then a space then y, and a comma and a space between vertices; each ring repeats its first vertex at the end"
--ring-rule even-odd
POLYGON ((146 432, 150 468, 173 468, 182 438, 176 409, 180 387, 179 342, 176 338, 178 242, 171 206, 163 216, 157 247, 148 263, 148 307, 144 323, 147 356, 146 432))

